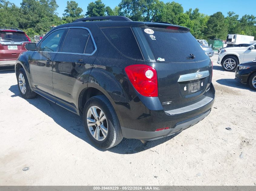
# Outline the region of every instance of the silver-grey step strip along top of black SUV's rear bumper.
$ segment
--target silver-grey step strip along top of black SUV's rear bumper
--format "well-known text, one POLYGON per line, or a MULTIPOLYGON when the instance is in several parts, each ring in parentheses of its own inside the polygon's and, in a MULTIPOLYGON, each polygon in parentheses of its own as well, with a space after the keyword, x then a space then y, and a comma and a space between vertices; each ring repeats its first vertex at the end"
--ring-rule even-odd
POLYGON ((175 110, 165 111, 165 113, 168 113, 170 115, 186 113, 188 111, 196 110, 200 107, 203 107, 206 104, 210 103, 212 100, 213 100, 213 98, 205 96, 204 99, 202 99, 201 101, 198 101, 197 103, 194 103, 194 104, 186 106, 186 107, 181 107, 181 108, 178 108, 178 109, 175 109, 175 110))

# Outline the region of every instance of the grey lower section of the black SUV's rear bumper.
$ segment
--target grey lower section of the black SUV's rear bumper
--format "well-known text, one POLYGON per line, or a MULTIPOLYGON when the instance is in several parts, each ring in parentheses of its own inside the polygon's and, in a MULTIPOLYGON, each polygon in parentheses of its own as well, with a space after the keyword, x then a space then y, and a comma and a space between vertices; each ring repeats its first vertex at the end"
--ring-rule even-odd
POLYGON ((176 123, 175 127, 172 129, 166 129, 166 130, 161 130, 161 131, 139 131, 135 129, 128 129, 125 127, 121 127, 123 136, 125 138, 135 138, 135 139, 140 139, 140 140, 145 140, 145 141, 152 141, 156 140, 159 138, 167 137, 170 135, 173 135, 175 133, 181 132, 195 124, 197 124, 199 121, 204 119, 208 114, 211 112, 211 110, 202 113, 199 116, 193 117, 191 119, 176 123))

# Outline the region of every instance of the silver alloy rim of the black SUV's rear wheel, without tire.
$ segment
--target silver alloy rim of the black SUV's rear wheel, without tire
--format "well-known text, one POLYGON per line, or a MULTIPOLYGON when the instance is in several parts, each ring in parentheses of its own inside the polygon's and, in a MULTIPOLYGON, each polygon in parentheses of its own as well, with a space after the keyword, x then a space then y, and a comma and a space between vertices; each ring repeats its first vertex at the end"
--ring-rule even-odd
POLYGON ((97 141, 103 141, 108 135, 108 122, 104 112, 97 106, 91 106, 87 112, 88 129, 97 141))

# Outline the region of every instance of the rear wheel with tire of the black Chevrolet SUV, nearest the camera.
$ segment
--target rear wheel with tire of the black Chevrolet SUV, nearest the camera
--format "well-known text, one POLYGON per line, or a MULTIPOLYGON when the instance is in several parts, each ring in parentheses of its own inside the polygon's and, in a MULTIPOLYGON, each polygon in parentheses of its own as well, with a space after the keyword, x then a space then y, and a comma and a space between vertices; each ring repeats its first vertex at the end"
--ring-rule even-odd
POLYGON ((118 117, 104 95, 91 97, 83 110, 85 132, 101 149, 118 145, 123 139, 118 117))

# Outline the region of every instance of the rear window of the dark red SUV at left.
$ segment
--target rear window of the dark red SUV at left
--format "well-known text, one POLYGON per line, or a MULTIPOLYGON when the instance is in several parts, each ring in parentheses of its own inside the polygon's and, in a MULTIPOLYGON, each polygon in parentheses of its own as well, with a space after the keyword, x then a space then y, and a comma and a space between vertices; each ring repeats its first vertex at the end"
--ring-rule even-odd
POLYGON ((0 32, 1 42, 28 42, 28 38, 24 33, 16 32, 0 32))

